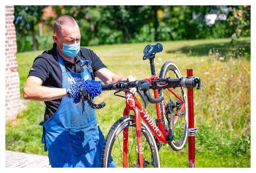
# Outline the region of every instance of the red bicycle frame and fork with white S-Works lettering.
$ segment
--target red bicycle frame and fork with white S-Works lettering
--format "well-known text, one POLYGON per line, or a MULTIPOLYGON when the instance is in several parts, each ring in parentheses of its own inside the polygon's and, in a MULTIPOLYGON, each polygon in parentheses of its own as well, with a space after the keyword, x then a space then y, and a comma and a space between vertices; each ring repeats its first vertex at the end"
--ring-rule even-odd
MULTIPOLYGON (((151 84, 153 79, 157 79, 157 76, 153 75, 148 80, 151 84)), ((173 90, 170 88, 167 88, 175 97, 177 97, 182 102, 182 107, 178 112, 181 112, 184 110, 185 102, 176 94, 173 90)), ((154 97, 158 97, 158 89, 154 90, 154 97)), ((157 121, 157 124, 154 122, 154 120, 149 116, 145 108, 141 105, 141 103, 134 97, 131 93, 125 92, 125 100, 126 100, 126 107, 124 108, 124 116, 128 115, 130 111, 134 112, 135 115, 135 125, 136 125, 136 136, 137 136, 137 147, 138 147, 138 162, 139 166, 143 167, 143 153, 142 153, 142 139, 141 139, 141 119, 147 124, 151 132, 156 138, 156 142, 159 144, 166 144, 168 143, 166 136, 169 135, 169 129, 166 130, 163 121, 163 114, 161 113, 160 104, 159 102, 156 103, 156 110, 157 110, 157 119, 160 121, 157 121)), ((123 131, 123 149, 124 149, 124 156, 123 156, 123 167, 126 168, 128 165, 128 127, 124 128, 123 131)))

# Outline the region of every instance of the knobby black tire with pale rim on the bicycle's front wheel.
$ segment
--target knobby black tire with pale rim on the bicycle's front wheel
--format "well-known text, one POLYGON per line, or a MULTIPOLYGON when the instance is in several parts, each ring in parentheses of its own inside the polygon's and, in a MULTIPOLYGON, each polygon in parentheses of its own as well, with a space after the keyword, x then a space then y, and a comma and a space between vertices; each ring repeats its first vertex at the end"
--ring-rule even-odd
MULTIPOLYGON (((128 127, 128 129, 130 129, 130 127, 135 127, 135 119, 134 116, 132 115, 126 115, 120 119, 118 119, 114 125, 111 127, 110 131, 107 134, 107 138, 105 141, 105 144, 103 146, 103 150, 102 150, 102 156, 101 156, 101 167, 106 168, 109 166, 109 161, 111 156, 113 156, 112 150, 113 150, 113 145, 115 143, 115 141, 119 138, 118 135, 121 133, 123 134, 123 130, 124 128, 128 127)), ((132 129, 133 130, 133 129, 132 129)), ((136 129, 135 129, 136 130, 136 129)), ((144 139, 146 139, 146 142, 149 144, 149 148, 150 148, 150 152, 151 152, 151 164, 153 165, 153 167, 160 167, 160 160, 159 160, 159 154, 158 154, 158 149, 157 149, 157 144, 155 142, 154 136, 151 133, 151 131, 149 130, 149 127, 145 124, 145 122, 141 121, 141 130, 142 130, 142 137, 145 137, 144 139)), ((129 132, 130 134, 130 132, 129 132)), ((135 134, 136 135, 136 134, 135 134)), ((130 140, 130 139, 129 139, 130 140)), ((130 145, 130 142, 129 142, 130 145)), ((137 147, 137 142, 135 142, 135 149, 137 147)), ((143 145, 143 148, 145 148, 145 146, 143 145)), ((118 149, 117 149, 118 150, 118 149)), ((128 153, 129 153, 130 147, 128 147, 128 153)), ((131 149, 132 150, 132 149, 131 149)), ((130 153, 128 154, 130 157, 130 153)), ((122 157, 122 153, 121 153, 121 157, 122 157)), ((143 155, 144 157, 144 155, 143 155)), ((149 157, 149 156, 148 156, 149 157)), ((112 157, 113 159, 115 157, 112 157)), ((119 160, 120 161, 120 160, 119 160)), ((129 160, 130 161, 130 160, 129 160)), ((114 162, 116 164, 116 166, 118 165, 114 159, 114 162)), ((131 161, 132 162, 132 161, 131 161)), ((122 163, 119 163, 119 165, 121 165, 122 163)), ((136 164, 134 164, 135 166, 136 164)), ((132 166, 132 164, 130 165, 130 162, 128 164, 128 167, 134 167, 132 166)), ((138 164, 137 164, 138 166, 138 164)), ((144 160, 144 166, 147 166, 145 164, 145 160, 144 160)), ((122 167, 122 166, 120 166, 122 167)))

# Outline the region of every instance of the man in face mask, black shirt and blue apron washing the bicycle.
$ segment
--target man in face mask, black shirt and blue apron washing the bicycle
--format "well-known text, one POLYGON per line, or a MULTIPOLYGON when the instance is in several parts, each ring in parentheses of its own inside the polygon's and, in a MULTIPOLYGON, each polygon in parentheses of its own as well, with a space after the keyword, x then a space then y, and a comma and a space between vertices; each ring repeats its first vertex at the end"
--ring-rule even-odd
MULTIPOLYGON (((95 110, 86 101, 82 114, 81 104, 67 97, 67 89, 94 76, 105 84, 135 79, 115 75, 93 51, 80 48, 80 30, 72 17, 60 16, 53 30, 53 48, 34 60, 23 97, 45 102, 42 142, 52 167, 99 167, 104 136, 95 110)), ((114 166, 113 161, 110 166, 114 166)))

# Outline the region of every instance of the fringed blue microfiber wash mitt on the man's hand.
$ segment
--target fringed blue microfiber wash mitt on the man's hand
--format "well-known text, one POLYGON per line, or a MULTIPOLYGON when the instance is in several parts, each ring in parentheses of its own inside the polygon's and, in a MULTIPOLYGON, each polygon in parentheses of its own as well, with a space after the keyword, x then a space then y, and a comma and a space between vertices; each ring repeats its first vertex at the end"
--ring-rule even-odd
POLYGON ((80 87, 84 87, 84 89, 91 96, 91 98, 95 98, 102 92, 102 84, 100 81, 95 81, 95 80, 79 81, 77 83, 74 83, 70 87, 70 93, 73 95, 74 103, 80 102, 80 99, 81 99, 81 96, 79 93, 80 87))

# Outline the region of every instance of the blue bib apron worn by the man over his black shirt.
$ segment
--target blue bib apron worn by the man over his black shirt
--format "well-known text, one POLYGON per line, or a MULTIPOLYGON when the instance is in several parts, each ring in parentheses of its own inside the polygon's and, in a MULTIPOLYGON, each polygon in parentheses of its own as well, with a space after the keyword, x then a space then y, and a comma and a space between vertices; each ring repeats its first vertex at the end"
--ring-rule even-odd
MULTIPOLYGON (((80 60, 82 73, 66 72, 62 58, 58 55, 62 88, 68 88, 77 81, 92 79, 92 62, 80 60)), ((45 151, 48 150, 52 167, 100 167, 105 139, 99 129, 95 110, 88 106, 87 101, 84 110, 82 114, 80 103, 74 104, 72 98, 63 97, 55 114, 41 123, 42 143, 45 144, 45 151)), ((112 159, 110 167, 115 167, 112 159)))

